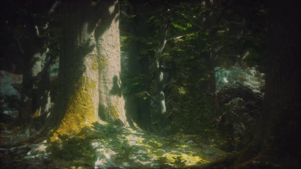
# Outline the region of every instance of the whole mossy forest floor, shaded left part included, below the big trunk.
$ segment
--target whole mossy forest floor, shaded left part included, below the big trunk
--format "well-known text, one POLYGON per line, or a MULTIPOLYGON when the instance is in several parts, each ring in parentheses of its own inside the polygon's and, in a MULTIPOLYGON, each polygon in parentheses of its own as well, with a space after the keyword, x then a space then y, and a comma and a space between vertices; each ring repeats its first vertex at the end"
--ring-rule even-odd
MULTIPOLYGON (((14 139, 1 134, 2 142, 14 139)), ((0 149, 2 168, 168 168, 207 163, 224 156, 195 135, 158 136, 140 129, 94 125, 85 136, 0 149)))

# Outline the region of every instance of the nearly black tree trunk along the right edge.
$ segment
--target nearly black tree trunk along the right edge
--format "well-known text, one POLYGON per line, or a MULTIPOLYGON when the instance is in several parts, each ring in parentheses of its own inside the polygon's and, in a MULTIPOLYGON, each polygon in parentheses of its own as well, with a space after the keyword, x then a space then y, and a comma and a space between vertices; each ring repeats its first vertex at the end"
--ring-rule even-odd
POLYGON ((269 58, 258 147, 250 145, 239 168, 300 167, 300 14, 296 2, 269 2, 269 58), (256 157, 250 151, 259 150, 256 157), (249 160, 251 158, 252 160, 249 160), (244 162, 248 160, 249 162, 244 162))

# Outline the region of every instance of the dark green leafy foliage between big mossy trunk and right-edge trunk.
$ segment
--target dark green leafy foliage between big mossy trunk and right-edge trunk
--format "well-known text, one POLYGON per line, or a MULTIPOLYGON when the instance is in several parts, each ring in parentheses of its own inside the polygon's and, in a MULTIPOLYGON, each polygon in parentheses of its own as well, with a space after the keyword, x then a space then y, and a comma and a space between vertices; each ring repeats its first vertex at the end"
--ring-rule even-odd
MULTIPOLYGON (((129 2, 127 7, 131 6, 129 2)), ((250 10, 246 9, 245 4, 232 1, 218 1, 206 6, 185 2, 154 2, 148 5, 156 6, 158 10, 149 14, 128 10, 132 12, 128 16, 135 16, 125 18, 127 23, 121 22, 123 26, 128 23, 134 25, 127 27, 130 31, 121 33, 121 50, 129 58, 135 57, 139 64, 147 62, 148 65, 144 66, 149 69, 149 72, 139 72, 138 75, 127 72, 127 76, 123 78, 123 84, 127 84, 125 95, 128 98, 157 98, 154 80, 156 67, 153 63, 158 59, 165 68, 164 94, 169 134, 198 134, 206 143, 221 146, 223 150, 234 151, 234 147, 240 149, 245 145, 242 144, 242 137, 246 136, 233 136, 233 131, 245 133, 243 128, 252 127, 239 114, 237 107, 243 106, 242 104, 238 103, 234 109, 231 109, 234 105, 216 107, 214 95, 216 89, 220 89, 219 84, 216 84, 216 73, 220 73, 216 71, 216 67, 236 66, 248 69, 249 66, 257 65, 258 69, 262 69, 262 61, 265 59, 262 37, 265 31, 260 26, 263 24, 258 22, 264 20, 264 7, 258 2, 249 2, 248 5, 254 7, 250 10), (145 23, 144 28, 147 30, 140 29, 135 21, 145 23), (168 30, 166 44, 161 55, 156 55, 155 58, 154 53, 160 45, 165 27, 168 30), (133 30, 138 33, 133 34, 133 30), (143 34, 145 36, 141 36, 143 34), (133 48, 133 44, 136 44, 136 48, 133 48), (133 51, 138 54, 133 54, 133 51), (226 132, 230 133, 228 135, 223 135, 222 130, 217 128, 221 116, 227 119, 228 122, 225 123, 233 124, 228 128, 229 132, 226 132)), ((238 81, 245 79, 241 75, 237 78, 238 81)), ((263 85, 262 80, 257 81, 260 84, 255 85, 263 85)), ((252 85, 254 83, 250 84, 252 85)), ((155 102, 151 106, 151 118, 159 131, 160 127, 156 126, 160 124, 162 116, 155 102)))

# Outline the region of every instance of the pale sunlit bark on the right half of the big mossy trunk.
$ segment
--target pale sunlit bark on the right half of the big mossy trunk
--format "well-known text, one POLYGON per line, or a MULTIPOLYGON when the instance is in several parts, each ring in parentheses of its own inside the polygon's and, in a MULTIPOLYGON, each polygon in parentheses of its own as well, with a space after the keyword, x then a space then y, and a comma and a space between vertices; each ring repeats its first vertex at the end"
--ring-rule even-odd
POLYGON ((104 14, 99 27, 107 27, 105 32, 95 30, 99 72, 99 116, 103 120, 114 122, 117 119, 128 126, 124 99, 120 81, 120 41, 119 41, 119 6, 115 2, 104 14), (103 22, 103 24, 102 24, 103 22))

